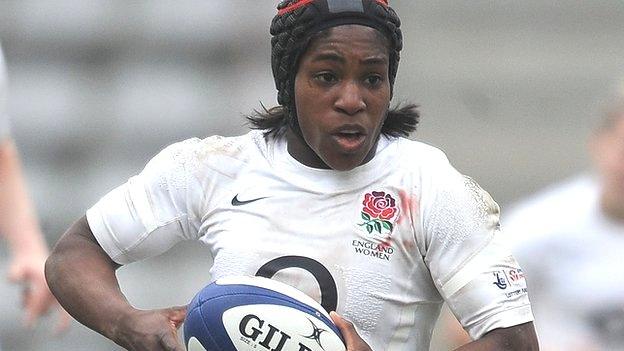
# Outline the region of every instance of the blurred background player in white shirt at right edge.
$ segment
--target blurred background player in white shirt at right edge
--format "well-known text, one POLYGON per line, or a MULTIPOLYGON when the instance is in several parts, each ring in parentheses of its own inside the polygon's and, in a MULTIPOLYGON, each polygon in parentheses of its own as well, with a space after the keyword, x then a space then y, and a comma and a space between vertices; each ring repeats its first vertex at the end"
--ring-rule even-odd
POLYGON ((593 170, 505 218, 544 350, 624 350, 624 95, 589 143, 593 170))

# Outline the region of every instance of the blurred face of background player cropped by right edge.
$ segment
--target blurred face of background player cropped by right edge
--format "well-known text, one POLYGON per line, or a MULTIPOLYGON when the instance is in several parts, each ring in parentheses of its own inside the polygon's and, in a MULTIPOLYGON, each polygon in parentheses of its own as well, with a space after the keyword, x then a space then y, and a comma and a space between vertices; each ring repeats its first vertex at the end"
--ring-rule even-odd
POLYGON ((624 202, 624 113, 612 128, 596 137, 592 153, 605 191, 624 202))

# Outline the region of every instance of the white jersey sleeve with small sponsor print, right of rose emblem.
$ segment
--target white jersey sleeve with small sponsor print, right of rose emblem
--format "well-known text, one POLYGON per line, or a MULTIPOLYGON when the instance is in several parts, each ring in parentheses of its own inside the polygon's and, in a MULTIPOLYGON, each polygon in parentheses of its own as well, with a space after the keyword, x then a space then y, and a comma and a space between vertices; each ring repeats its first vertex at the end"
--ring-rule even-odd
POLYGON ((524 274, 503 243, 499 207, 444 157, 423 176, 425 262, 473 339, 533 320, 524 274))

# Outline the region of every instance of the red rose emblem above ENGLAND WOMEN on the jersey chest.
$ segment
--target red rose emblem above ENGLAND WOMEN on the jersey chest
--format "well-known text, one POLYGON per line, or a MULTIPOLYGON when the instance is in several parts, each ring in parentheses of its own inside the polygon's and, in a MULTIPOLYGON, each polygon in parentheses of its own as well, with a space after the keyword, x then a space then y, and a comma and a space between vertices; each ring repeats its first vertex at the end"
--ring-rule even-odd
POLYGON ((365 227, 370 234, 373 231, 379 234, 391 233, 393 224, 391 220, 396 216, 398 208, 396 201, 390 194, 384 191, 373 191, 364 195, 362 201, 362 219, 364 223, 359 226, 365 227))

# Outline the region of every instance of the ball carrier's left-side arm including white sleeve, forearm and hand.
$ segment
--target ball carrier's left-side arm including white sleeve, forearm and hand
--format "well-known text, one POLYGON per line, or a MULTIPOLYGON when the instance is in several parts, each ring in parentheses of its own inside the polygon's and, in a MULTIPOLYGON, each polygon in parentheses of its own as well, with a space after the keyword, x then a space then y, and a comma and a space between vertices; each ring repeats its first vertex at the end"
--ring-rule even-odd
POLYGON ((137 310, 115 270, 197 238, 189 217, 203 194, 191 173, 198 139, 173 144, 138 175, 104 195, 61 237, 46 264, 52 292, 79 322, 129 350, 183 350, 177 327, 185 307, 137 310))

